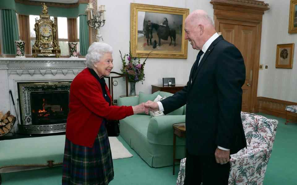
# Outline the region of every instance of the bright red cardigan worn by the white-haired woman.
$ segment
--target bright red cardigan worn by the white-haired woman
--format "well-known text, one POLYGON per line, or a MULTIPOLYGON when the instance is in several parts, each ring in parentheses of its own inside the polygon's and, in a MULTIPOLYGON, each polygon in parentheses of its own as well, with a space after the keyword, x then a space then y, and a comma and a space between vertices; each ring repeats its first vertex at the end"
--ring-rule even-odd
MULTIPOLYGON (((110 91, 105 85, 110 97, 110 91)), ((88 68, 80 72, 70 86, 66 137, 74 144, 93 147, 103 118, 123 119, 133 115, 132 106, 109 106, 101 85, 88 68)))

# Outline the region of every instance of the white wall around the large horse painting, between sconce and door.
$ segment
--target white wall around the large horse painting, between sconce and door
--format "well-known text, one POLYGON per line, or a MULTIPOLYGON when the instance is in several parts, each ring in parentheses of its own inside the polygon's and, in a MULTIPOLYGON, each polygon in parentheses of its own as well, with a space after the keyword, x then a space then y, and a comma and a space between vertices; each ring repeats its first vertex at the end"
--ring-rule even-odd
MULTIPOLYGON (((195 9, 204 9, 210 16, 213 17, 213 5, 210 1, 205 0, 123 0, 110 1, 98 0, 98 5, 105 5, 106 8, 106 23, 100 29, 105 43, 110 44, 113 49, 114 69, 119 72, 122 66, 119 57, 119 51, 123 53, 129 52, 130 40, 130 3, 141 3, 158 6, 172 6, 179 8, 189 8, 190 13, 195 9)), ((144 93, 151 93, 152 84, 162 84, 163 77, 175 77, 176 84, 186 84, 189 78, 189 73, 193 63, 196 60, 197 50, 193 50, 191 44, 188 44, 188 58, 187 59, 154 59, 149 58, 146 61, 144 68, 145 81, 136 84, 136 94, 139 91, 144 93)), ((141 61, 143 61, 142 59, 141 61)), ((121 83, 122 80, 120 80, 121 83)), ((115 88, 116 89, 116 88, 115 88)), ((117 97, 123 94, 124 91, 118 93, 114 92, 117 97)))

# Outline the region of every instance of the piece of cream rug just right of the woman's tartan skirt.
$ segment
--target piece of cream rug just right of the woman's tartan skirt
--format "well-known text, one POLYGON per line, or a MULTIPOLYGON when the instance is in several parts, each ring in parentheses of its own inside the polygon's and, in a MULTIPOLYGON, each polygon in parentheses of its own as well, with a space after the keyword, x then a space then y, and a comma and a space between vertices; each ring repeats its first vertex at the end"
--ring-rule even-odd
POLYGON ((125 148, 125 146, 118 140, 117 137, 108 137, 110 142, 110 149, 112 159, 121 159, 133 157, 133 155, 125 148))

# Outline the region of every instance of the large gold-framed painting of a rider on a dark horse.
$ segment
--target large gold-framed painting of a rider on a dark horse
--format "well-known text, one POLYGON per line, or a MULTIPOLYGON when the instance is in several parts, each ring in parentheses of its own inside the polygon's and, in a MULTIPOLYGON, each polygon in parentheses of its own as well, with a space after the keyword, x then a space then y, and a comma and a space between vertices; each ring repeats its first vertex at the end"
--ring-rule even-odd
POLYGON ((189 9, 131 3, 131 54, 134 57, 186 59, 184 39, 189 9))

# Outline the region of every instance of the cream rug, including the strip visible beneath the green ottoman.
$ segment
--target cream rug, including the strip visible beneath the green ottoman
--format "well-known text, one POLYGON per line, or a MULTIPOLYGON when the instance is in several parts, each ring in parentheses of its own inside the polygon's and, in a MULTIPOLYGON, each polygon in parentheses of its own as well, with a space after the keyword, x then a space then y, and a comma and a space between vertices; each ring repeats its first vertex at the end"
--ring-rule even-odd
MULTIPOLYGON (((108 137, 108 139, 110 142, 112 159, 122 159, 122 158, 133 157, 133 155, 127 150, 127 148, 125 148, 125 146, 118 140, 117 137, 108 137)), ((7 167, 7 168, 0 169, 0 173, 35 170, 40 168, 47 168, 47 167, 7 167)))

